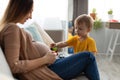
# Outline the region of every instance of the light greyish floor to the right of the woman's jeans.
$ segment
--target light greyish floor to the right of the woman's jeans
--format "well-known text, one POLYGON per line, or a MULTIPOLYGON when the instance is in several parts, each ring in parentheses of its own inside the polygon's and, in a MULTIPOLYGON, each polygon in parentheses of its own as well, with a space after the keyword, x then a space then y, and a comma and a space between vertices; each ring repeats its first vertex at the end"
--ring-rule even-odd
MULTIPOLYGON (((106 55, 96 56, 100 80, 120 80, 120 55, 114 55, 110 61, 106 55)), ((76 78, 75 80, 87 80, 84 78, 76 78)))

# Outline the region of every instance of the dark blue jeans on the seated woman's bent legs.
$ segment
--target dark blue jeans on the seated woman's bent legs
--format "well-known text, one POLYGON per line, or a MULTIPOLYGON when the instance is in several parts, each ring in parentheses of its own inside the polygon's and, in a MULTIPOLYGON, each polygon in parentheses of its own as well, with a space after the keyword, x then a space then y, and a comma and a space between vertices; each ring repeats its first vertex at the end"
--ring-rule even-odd
POLYGON ((82 72, 90 80, 100 80, 95 57, 90 52, 81 52, 72 56, 57 59, 49 68, 64 80, 70 80, 82 72))

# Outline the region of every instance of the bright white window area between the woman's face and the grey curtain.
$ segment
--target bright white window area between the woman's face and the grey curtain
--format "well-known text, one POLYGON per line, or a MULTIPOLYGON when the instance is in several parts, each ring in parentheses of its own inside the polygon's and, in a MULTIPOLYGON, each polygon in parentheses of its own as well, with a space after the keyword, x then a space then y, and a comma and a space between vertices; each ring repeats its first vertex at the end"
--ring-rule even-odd
POLYGON ((34 0, 33 19, 37 20, 42 27, 48 18, 66 21, 67 13, 68 0, 34 0))

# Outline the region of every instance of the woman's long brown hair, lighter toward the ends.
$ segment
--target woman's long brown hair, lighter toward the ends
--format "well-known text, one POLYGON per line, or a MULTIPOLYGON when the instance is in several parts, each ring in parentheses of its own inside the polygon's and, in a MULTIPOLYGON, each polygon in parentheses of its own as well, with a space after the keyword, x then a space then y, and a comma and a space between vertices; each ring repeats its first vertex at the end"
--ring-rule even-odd
POLYGON ((19 22, 31 11, 32 7, 33 0, 9 0, 0 25, 19 22))

